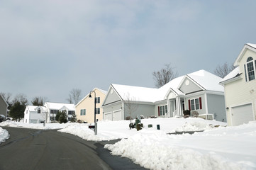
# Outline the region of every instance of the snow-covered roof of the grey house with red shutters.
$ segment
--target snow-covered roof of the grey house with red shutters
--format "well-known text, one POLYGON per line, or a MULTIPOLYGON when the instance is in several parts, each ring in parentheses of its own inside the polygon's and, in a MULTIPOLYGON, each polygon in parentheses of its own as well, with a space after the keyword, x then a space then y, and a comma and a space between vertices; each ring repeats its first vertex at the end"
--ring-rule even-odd
POLYGON ((111 86, 113 86, 113 89, 116 90, 118 95, 121 96, 124 101, 126 101, 126 98, 129 95, 130 99, 134 99, 135 101, 154 103, 156 101, 164 100, 169 90, 174 91, 179 96, 185 95, 179 90, 179 86, 182 84, 185 77, 195 81, 196 84, 199 84, 199 86, 207 91, 224 91, 223 86, 218 84, 221 81, 221 77, 217 77, 203 69, 198 72, 172 79, 172 81, 169 81, 169 83, 159 89, 121 84, 111 84, 111 86))

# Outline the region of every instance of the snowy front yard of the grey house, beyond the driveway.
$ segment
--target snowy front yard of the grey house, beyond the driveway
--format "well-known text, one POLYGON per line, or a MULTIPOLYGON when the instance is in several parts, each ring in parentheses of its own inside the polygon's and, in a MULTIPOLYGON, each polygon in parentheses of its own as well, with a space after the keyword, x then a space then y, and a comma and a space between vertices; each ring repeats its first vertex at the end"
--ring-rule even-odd
MULTIPOLYGON (((201 118, 156 118, 156 119, 143 119, 141 120, 144 128, 143 131, 137 131, 136 129, 130 130, 129 123, 130 120, 120 120, 120 121, 108 121, 102 120, 98 124, 97 135, 94 135, 94 131, 88 128, 88 125, 84 124, 74 124, 68 125, 66 128, 59 130, 59 132, 67 132, 72 135, 77 135, 82 137, 84 140, 116 140, 128 138, 132 135, 138 134, 140 132, 162 132, 163 134, 169 132, 175 132, 178 127, 187 124, 186 130, 194 131, 199 130, 200 125, 204 126, 204 130, 210 129, 207 128, 209 124, 216 125, 226 125, 226 123, 221 123, 217 121, 204 120, 201 118), (194 123, 196 121, 196 123, 194 123), (152 125, 153 128, 148 128, 148 125, 152 125), (160 130, 157 130, 157 125, 160 125, 160 130), (190 125, 190 126, 188 126, 190 125), (195 128, 194 125, 197 125, 195 128), (190 129, 189 129, 190 128, 190 129)), ((203 129, 203 128, 201 128, 203 129)), ((211 128, 213 129, 213 128, 211 128)))

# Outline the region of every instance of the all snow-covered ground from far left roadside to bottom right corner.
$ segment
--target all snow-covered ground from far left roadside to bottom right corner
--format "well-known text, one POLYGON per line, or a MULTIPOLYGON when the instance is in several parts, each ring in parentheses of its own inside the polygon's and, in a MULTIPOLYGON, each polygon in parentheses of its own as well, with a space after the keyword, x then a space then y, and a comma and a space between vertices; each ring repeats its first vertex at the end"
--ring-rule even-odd
MULTIPOLYGON (((128 157, 148 169, 256 169, 256 123, 237 127, 225 127, 226 123, 201 118, 143 119, 143 130, 130 130, 130 121, 101 121, 98 135, 87 124, 14 123, 0 126, 52 129, 62 128, 84 140, 122 139, 113 145, 105 145, 112 154, 128 157), (55 125, 54 125, 55 124, 55 125), (148 125, 153 128, 148 128, 148 125), (157 130, 160 125, 160 130, 157 130), (215 128, 214 125, 221 125, 215 128), (175 131, 200 131, 194 135, 167 135, 175 131)), ((0 135, 1 139, 1 135, 0 135)))

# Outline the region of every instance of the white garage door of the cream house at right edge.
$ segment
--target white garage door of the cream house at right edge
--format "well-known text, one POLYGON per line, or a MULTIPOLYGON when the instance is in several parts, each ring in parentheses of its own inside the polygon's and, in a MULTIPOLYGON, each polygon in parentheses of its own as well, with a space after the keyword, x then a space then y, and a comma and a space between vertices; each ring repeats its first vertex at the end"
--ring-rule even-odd
POLYGON ((252 104, 232 108, 233 125, 242 125, 253 120, 252 104))

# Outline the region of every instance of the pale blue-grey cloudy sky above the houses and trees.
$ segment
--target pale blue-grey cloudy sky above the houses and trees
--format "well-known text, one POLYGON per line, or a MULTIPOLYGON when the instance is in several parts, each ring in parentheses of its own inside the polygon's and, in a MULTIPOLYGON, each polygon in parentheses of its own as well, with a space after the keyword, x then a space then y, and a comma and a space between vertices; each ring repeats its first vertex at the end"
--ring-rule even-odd
POLYGON ((233 64, 256 43, 256 1, 0 0, 0 92, 67 103, 111 84, 155 87, 233 64))

